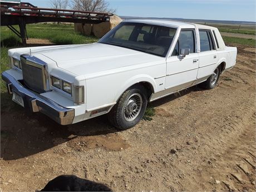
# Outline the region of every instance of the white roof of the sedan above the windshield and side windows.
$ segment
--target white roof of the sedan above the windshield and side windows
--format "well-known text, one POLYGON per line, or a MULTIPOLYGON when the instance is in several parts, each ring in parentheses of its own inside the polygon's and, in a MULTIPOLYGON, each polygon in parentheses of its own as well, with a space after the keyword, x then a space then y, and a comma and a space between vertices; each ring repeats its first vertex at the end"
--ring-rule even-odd
POLYGON ((172 21, 172 20, 162 20, 162 19, 127 19, 123 22, 132 22, 132 23, 145 23, 145 24, 156 24, 166 27, 175 27, 175 28, 203 28, 203 29, 213 29, 214 27, 205 26, 203 24, 195 24, 181 21, 172 21))

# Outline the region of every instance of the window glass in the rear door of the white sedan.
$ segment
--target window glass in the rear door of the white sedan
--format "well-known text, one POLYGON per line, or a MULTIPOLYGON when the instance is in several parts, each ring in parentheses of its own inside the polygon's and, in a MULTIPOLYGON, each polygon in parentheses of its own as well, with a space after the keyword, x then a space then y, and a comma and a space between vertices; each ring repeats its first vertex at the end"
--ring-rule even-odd
POLYGON ((210 30, 199 30, 201 52, 215 50, 210 30))

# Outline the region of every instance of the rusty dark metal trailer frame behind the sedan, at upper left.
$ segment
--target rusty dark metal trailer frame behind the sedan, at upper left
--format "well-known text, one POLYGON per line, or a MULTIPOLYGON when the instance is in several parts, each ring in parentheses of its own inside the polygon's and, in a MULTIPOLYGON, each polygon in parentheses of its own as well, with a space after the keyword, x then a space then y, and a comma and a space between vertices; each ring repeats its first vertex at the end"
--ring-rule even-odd
POLYGON ((2 3, 1 26, 7 26, 21 38, 26 45, 26 24, 41 22, 90 23, 98 24, 110 21, 110 13, 77 11, 70 9, 38 8, 30 3, 2 3), (19 31, 13 27, 19 26, 19 31))

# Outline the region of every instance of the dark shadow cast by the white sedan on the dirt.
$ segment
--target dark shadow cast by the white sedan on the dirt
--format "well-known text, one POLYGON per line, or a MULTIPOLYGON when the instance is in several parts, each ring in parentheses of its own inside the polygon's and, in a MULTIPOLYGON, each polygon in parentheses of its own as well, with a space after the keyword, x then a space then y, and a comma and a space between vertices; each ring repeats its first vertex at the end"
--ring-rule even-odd
MULTIPOLYGON (((191 87, 154 101, 150 106, 163 105, 193 91, 201 89, 191 87)), ((11 96, 1 93, 1 158, 4 160, 34 155, 79 136, 107 135, 115 132, 119 130, 110 125, 106 115, 62 126, 43 114, 25 111, 11 101, 11 96)))

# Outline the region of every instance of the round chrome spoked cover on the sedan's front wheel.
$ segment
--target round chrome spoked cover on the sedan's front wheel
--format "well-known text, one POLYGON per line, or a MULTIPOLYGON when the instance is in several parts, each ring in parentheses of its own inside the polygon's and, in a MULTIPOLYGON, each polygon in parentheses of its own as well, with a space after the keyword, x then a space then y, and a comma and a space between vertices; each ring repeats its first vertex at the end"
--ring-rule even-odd
POLYGON ((134 121, 140 114, 142 108, 142 97, 139 93, 132 94, 127 99, 124 107, 124 117, 126 121, 134 121))

